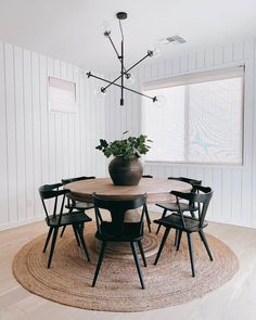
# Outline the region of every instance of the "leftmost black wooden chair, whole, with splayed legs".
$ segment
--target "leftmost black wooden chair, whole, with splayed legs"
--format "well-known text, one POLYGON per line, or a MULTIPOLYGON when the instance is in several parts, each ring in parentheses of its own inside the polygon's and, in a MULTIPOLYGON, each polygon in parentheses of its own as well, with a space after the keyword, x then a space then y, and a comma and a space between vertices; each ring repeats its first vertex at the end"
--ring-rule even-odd
POLYGON ((73 212, 72 214, 63 213, 66 194, 69 193, 71 191, 67 189, 59 190, 59 188, 61 188, 62 185, 63 185, 62 183, 55 183, 55 184, 44 184, 39 188, 39 194, 41 197, 42 206, 47 215, 46 221, 49 227, 49 232, 48 232, 46 244, 43 247, 43 253, 47 251, 49 241, 52 236, 52 244, 51 244, 51 249, 50 249, 50 255, 48 260, 48 268, 51 267, 51 261, 52 261, 52 256, 54 253, 59 229, 64 226, 73 227, 77 243, 78 244, 81 243, 86 252, 87 259, 88 261, 90 261, 90 256, 89 256, 87 245, 84 239, 84 225, 86 222, 90 222, 92 219, 86 216, 82 212, 73 212), (57 205, 59 199, 61 199, 60 205, 57 205), (46 201, 50 201, 50 200, 54 200, 54 206, 53 206, 52 213, 48 210, 47 204, 46 204, 46 201))

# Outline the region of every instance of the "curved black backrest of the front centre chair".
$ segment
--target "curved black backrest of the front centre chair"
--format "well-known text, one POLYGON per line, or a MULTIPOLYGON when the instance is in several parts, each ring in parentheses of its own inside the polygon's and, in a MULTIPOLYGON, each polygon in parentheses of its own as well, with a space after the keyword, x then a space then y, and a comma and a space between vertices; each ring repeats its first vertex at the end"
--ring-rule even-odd
POLYGON ((113 236, 119 238, 123 235, 123 230, 125 227, 125 215, 127 210, 137 209, 142 207, 140 220, 132 222, 138 225, 140 232, 143 232, 143 218, 146 207, 146 194, 132 200, 113 200, 113 197, 100 196, 95 193, 93 194, 93 204, 95 210, 95 219, 98 232, 101 234, 101 223, 104 221, 101 215, 101 209, 106 209, 111 214, 111 223, 113 236))

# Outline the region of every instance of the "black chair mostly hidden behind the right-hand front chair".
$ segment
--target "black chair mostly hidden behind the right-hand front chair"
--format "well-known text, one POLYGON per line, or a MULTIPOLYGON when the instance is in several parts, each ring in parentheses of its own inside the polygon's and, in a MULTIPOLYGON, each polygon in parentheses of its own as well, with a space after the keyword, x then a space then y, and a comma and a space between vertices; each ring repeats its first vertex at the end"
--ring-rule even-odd
MULTIPOLYGON (((181 181, 181 182, 187 182, 192 185, 191 192, 194 192, 194 187, 195 185, 202 185, 202 180, 195 180, 191 178, 184 178, 184 177, 168 177, 169 180, 176 180, 176 181, 181 181)), ((162 214, 162 219, 167 215, 168 212, 176 213, 178 210, 178 204, 177 203, 156 203, 156 206, 161 207, 164 209, 162 214)), ((197 207, 195 206, 194 203, 180 203, 180 209, 183 212, 189 212, 192 217, 194 217, 194 212, 197 210, 197 207)), ((156 234, 158 234, 161 229, 161 225, 158 226, 156 230, 156 234)), ((178 232, 176 233, 175 238, 175 245, 177 244, 177 239, 178 239, 178 232)))

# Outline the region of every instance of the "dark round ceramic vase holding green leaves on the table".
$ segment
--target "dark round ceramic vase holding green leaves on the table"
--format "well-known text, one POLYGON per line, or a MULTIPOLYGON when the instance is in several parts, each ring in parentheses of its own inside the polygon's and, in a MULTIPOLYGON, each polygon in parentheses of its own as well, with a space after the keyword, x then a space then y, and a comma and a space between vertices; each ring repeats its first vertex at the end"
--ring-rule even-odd
POLYGON ((116 156, 111 161, 108 171, 115 185, 137 185, 142 177, 143 167, 137 156, 129 161, 116 156))

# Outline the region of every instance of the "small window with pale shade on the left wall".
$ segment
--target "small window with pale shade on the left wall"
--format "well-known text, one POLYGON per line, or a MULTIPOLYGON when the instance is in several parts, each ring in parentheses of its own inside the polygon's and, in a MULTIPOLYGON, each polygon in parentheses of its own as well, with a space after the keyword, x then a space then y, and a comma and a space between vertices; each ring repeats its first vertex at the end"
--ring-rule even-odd
POLYGON ((76 113, 76 84, 49 77, 49 110, 76 113))

